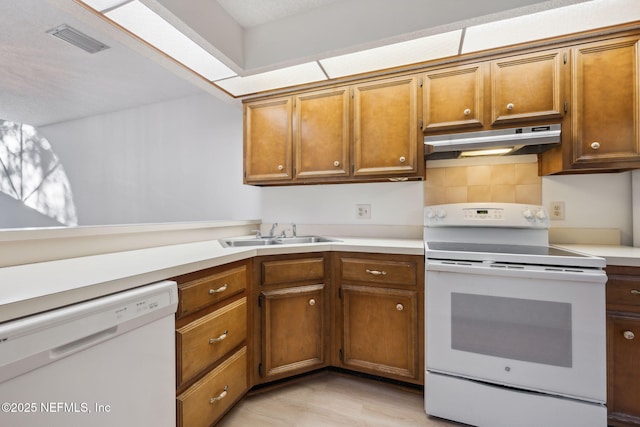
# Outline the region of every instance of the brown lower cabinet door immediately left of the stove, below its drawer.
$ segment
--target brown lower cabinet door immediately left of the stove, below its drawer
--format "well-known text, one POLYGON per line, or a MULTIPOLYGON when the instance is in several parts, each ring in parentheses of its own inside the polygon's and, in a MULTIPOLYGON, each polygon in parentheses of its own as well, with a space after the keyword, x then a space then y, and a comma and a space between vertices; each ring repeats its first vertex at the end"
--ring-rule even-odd
POLYGON ((415 291, 342 286, 342 363, 396 378, 418 378, 415 291))

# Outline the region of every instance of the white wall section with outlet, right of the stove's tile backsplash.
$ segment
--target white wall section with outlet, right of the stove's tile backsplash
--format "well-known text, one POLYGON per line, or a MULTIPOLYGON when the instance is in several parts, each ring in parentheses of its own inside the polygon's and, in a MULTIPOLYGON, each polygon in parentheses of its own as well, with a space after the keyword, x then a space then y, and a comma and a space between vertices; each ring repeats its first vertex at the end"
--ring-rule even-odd
POLYGON ((543 177, 542 201, 565 202, 565 219, 551 227, 617 228, 633 244, 631 172, 543 177))

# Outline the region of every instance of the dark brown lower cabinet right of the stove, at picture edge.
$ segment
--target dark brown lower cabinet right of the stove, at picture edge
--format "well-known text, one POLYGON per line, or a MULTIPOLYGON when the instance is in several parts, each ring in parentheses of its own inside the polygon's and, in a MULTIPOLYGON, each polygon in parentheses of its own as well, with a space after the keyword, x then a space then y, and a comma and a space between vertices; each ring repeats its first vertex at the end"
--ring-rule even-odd
POLYGON ((609 425, 640 426, 640 267, 607 267, 609 425))

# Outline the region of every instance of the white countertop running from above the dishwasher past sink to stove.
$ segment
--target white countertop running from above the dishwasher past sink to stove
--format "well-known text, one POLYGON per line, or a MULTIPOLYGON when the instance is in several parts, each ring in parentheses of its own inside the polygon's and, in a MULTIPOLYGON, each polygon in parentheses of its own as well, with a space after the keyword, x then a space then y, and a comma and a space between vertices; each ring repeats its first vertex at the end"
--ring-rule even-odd
POLYGON ((0 322, 259 255, 424 254, 422 239, 333 238, 340 241, 242 248, 208 240, 0 268, 0 322))

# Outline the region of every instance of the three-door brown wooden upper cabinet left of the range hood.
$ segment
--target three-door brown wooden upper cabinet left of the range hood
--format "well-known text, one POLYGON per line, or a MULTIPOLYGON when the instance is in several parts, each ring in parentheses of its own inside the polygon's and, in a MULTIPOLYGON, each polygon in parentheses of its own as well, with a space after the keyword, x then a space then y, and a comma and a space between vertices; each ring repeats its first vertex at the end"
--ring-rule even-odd
POLYGON ((421 179, 417 82, 395 77, 245 103, 245 183, 421 179))

